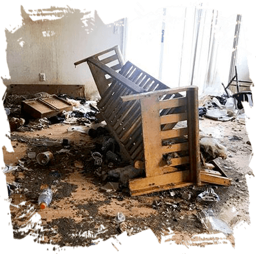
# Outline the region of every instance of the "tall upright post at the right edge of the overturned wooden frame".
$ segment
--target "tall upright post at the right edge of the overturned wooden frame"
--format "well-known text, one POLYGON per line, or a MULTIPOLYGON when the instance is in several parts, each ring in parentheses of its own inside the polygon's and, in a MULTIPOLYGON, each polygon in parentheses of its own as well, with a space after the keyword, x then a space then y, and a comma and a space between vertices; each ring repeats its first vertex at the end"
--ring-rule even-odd
POLYGON ((198 88, 190 86, 186 91, 188 112, 188 140, 190 157, 190 181, 200 185, 200 144, 198 120, 198 88))

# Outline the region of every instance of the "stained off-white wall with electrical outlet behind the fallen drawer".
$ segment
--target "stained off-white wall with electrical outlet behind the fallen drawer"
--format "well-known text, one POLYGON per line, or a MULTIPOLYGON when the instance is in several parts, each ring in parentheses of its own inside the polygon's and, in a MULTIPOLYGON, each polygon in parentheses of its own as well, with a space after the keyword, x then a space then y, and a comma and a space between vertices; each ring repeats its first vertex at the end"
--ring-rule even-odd
POLYGON ((104 24, 96 10, 89 15, 70 7, 44 9, 55 11, 56 19, 30 17, 45 15, 42 10, 31 14, 21 6, 22 25, 5 29, 10 79, 2 78, 3 84, 86 84, 87 93, 94 93, 87 64, 75 68, 74 62, 115 45, 122 49, 124 19, 104 24), (46 81, 39 81, 39 73, 46 81))

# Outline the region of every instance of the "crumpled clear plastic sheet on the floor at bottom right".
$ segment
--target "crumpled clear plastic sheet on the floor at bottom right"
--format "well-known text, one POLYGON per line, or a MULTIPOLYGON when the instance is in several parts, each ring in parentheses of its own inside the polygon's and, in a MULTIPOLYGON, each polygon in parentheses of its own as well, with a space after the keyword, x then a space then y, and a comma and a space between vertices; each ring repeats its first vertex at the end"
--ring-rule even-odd
POLYGON ((224 236, 230 235, 232 230, 230 226, 213 212, 212 209, 202 210, 199 213, 201 223, 208 229, 209 233, 219 234, 223 233, 224 236))

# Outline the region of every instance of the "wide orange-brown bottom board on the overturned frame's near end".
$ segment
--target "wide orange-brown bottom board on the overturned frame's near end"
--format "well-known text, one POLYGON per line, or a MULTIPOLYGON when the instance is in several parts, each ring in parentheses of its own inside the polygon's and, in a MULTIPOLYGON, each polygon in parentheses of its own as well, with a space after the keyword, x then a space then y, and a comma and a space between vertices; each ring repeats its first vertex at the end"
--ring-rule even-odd
POLYGON ((136 178, 129 181, 129 189, 143 190, 150 187, 175 185, 179 182, 189 182, 189 170, 176 171, 167 174, 154 175, 145 178, 136 178))

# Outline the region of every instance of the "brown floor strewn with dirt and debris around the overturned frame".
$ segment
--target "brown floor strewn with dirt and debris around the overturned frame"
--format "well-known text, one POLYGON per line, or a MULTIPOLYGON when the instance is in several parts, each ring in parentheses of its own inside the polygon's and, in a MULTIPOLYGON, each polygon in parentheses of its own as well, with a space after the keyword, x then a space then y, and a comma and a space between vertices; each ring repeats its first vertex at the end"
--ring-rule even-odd
MULTIPOLYGON (((41 120, 38 124, 10 132, 13 151, 5 146, 2 149, 5 165, 18 166, 5 174, 12 190, 9 208, 14 239, 33 236, 39 244, 90 247, 99 241, 113 241, 123 233, 132 237, 151 230, 159 243, 200 247, 230 243, 234 247, 233 233, 203 237, 209 232, 198 214, 211 207, 231 229, 251 224, 246 175, 253 175, 249 166, 253 147, 242 120, 200 120, 201 134, 213 136, 228 150, 227 159, 217 161, 232 178, 232 185, 214 188, 220 201, 213 205, 196 200, 207 186, 130 197, 121 192, 118 183, 109 183, 110 179, 102 178, 102 172, 96 170, 91 153, 102 140, 88 133, 98 125, 81 118, 79 123, 48 124, 41 120), (63 143, 63 139, 68 141, 63 143), (54 155, 45 166, 33 158, 33 152, 43 151, 54 155), (37 198, 45 185, 51 186, 54 196, 49 207, 40 210, 37 198), (124 214, 125 221, 116 222, 117 212, 124 214)), ((124 167, 125 163, 108 161, 105 170, 124 167)))

